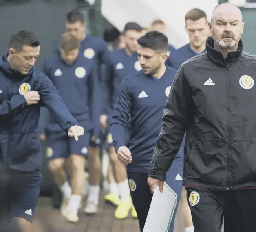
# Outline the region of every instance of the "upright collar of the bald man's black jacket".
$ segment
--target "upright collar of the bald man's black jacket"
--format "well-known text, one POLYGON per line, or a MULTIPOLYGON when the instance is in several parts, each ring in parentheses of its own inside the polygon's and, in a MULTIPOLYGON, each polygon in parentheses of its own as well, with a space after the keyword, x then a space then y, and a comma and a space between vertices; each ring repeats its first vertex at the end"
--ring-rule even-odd
POLYGON ((229 52, 226 60, 224 59, 221 52, 216 51, 214 48, 214 42, 212 36, 206 40, 206 53, 207 57, 218 66, 229 67, 241 59, 243 54, 243 43, 240 39, 238 43, 238 50, 229 52))

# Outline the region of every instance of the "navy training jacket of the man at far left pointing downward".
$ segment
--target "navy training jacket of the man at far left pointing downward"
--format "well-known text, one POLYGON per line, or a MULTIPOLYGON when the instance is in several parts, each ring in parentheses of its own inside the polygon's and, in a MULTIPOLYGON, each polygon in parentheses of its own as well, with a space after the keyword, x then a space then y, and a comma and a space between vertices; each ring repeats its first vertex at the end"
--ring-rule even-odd
POLYGON ((8 54, 1 58, 1 166, 34 171, 42 165, 38 121, 40 106, 46 106, 61 128, 78 125, 51 80, 32 67, 24 75, 9 67, 8 54), (38 91, 40 102, 27 105, 24 93, 38 91))

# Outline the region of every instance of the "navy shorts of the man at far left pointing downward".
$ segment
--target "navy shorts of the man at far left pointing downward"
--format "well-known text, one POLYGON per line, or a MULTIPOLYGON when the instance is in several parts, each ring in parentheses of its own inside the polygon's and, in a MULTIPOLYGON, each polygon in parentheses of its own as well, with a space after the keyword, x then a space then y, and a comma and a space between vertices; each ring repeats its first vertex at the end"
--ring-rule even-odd
POLYGON ((6 225, 13 217, 32 221, 42 182, 41 171, 24 172, 1 167, 0 178, 1 225, 6 225))

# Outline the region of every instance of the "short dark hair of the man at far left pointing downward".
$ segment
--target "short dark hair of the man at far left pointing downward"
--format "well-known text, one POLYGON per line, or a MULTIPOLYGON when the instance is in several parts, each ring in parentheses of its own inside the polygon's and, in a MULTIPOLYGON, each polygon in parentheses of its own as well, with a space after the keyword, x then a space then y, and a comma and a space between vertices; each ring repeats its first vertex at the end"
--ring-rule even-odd
POLYGON ((35 33, 31 30, 19 30, 11 35, 9 40, 9 47, 14 48, 16 51, 20 52, 23 50, 23 46, 27 45, 30 47, 38 47, 40 42, 35 33))

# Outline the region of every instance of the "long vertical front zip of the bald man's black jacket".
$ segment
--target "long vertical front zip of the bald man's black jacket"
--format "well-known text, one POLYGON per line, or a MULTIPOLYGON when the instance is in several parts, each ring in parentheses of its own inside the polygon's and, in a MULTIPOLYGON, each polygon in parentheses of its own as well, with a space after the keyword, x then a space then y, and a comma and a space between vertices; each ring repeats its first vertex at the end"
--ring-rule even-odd
POLYGON ((230 75, 229 63, 226 64, 227 68, 227 186, 226 190, 230 189, 230 75))

